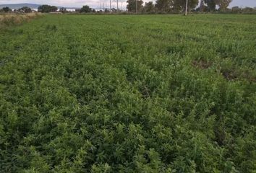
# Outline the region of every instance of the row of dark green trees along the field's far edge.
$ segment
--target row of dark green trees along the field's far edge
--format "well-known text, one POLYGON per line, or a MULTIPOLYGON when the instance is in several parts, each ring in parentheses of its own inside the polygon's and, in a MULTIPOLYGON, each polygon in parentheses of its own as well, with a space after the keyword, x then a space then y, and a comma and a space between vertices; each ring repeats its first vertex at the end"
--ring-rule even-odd
MULTIPOLYGON (((187 0, 156 0, 144 2, 142 0, 127 0, 127 11, 138 12, 138 13, 181 13, 186 8, 187 0), (144 5, 143 5, 144 4, 144 5)), ((256 13, 255 8, 240 8, 234 6, 231 9, 228 8, 232 0, 188 0, 188 11, 189 12, 231 12, 231 13, 256 13)), ((57 6, 41 5, 38 7, 38 12, 49 13, 57 12, 57 6)), ((12 12, 9 7, 0 9, 0 12, 12 12)), ((27 6, 23 6, 20 9, 14 10, 14 12, 30 13, 32 9, 27 6)), ((66 13, 67 9, 61 7, 59 12, 66 13)), ((81 9, 76 9, 76 12, 80 13, 95 13, 95 9, 90 6, 82 6, 81 9)), ((119 9, 103 9, 100 12, 120 12, 119 9)))

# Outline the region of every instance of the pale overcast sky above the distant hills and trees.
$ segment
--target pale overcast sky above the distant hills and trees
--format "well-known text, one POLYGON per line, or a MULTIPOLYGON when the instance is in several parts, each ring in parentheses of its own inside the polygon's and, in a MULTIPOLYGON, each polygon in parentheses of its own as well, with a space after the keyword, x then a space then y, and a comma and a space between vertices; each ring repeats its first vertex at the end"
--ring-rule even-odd
MULTIPOLYGON (((33 4, 51 4, 56 6, 72 6, 80 7, 82 5, 88 4, 93 7, 99 6, 103 1, 105 4, 109 3, 109 0, 0 0, 0 4, 17 4, 17 3, 33 3, 33 4)), ((116 1, 116 0, 111 0, 116 1)), ((127 1, 127 0, 119 0, 127 1)), ((152 0, 143 0, 143 1, 152 1, 152 0)), ((115 5, 113 3, 113 5, 115 5)), ((120 4, 121 5, 121 4, 120 4)), ((256 0, 233 0, 231 6, 256 6, 256 0)))

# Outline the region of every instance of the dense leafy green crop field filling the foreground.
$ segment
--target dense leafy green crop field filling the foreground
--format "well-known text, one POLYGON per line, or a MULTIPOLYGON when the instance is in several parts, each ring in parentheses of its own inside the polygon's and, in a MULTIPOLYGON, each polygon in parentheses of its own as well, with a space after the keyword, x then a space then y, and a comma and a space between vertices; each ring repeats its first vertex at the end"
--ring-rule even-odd
POLYGON ((256 15, 45 15, 0 30, 0 172, 255 172, 256 15))

